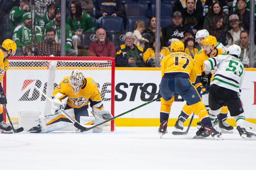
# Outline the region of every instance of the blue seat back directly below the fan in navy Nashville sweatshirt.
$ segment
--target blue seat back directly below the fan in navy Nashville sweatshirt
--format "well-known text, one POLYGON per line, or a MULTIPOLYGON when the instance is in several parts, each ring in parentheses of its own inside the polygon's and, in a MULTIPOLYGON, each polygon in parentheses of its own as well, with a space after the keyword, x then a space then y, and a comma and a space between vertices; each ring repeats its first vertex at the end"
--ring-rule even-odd
POLYGON ((123 32, 124 21, 121 17, 103 17, 100 22, 100 27, 106 31, 123 32))

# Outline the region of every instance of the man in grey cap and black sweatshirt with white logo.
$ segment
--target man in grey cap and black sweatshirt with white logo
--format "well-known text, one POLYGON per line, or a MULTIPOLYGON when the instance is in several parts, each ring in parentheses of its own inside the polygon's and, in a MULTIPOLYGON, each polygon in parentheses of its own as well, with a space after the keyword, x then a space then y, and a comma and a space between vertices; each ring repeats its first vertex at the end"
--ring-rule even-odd
POLYGON ((183 25, 182 21, 183 18, 181 17, 180 11, 175 11, 172 18, 173 25, 163 28, 164 43, 172 38, 177 38, 184 42, 184 32, 186 30, 190 30, 192 32, 192 30, 189 26, 183 25))

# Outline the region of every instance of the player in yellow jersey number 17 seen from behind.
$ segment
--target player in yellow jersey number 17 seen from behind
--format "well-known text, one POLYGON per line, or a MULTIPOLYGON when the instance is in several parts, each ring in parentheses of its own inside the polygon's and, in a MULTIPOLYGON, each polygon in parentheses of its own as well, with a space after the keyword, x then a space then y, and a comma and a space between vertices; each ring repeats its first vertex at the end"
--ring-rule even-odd
POLYGON ((166 133, 168 118, 174 101, 174 93, 176 93, 187 101, 188 105, 202 122, 202 128, 196 132, 196 136, 208 137, 211 134, 215 139, 222 139, 221 133, 212 127, 212 122, 206 108, 201 102, 195 86, 192 85, 196 80, 195 61, 183 51, 183 42, 175 41, 171 45, 172 53, 166 55, 161 61, 162 80, 159 85, 162 96, 161 124, 158 132, 161 134, 161 137, 166 133))

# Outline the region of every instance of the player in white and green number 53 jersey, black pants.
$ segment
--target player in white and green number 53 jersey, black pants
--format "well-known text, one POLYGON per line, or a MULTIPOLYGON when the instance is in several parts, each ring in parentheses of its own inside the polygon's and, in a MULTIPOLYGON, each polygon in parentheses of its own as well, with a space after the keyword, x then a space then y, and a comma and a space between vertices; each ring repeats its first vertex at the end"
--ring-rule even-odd
POLYGON ((221 54, 204 61, 204 73, 201 82, 204 85, 210 84, 211 70, 216 68, 214 78, 211 81, 209 90, 209 116, 215 119, 220 114, 222 106, 227 106, 230 116, 236 120, 236 129, 243 138, 256 139, 256 135, 246 131, 244 125, 244 109, 239 98, 241 86, 244 79, 244 65, 238 59, 241 48, 231 45, 227 54, 221 54))

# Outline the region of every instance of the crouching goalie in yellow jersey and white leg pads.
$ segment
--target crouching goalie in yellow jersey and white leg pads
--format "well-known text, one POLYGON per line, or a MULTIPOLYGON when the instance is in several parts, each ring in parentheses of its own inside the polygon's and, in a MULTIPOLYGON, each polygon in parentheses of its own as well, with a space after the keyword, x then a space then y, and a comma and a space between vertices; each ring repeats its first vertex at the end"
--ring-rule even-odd
MULTIPOLYGON (((65 77, 55 87, 52 93, 52 109, 56 110, 55 113, 38 117, 39 125, 29 129, 29 132, 47 133, 72 126, 73 123, 61 114, 61 109, 77 122, 86 125, 98 124, 113 117, 103 106, 97 83, 93 78, 85 78, 79 70, 73 70, 71 76, 65 77), (88 114, 89 102, 93 116, 88 114)), ((89 132, 98 133, 102 129, 103 125, 100 125, 89 132)))

